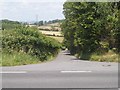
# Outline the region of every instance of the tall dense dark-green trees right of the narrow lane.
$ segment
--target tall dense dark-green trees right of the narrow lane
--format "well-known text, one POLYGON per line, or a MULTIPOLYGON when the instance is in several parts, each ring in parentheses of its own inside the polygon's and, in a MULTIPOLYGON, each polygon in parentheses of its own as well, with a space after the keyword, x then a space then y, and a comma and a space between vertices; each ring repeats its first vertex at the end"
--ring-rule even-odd
POLYGON ((64 43, 71 54, 89 59, 95 51, 102 53, 119 48, 118 3, 65 2, 62 23, 64 43))

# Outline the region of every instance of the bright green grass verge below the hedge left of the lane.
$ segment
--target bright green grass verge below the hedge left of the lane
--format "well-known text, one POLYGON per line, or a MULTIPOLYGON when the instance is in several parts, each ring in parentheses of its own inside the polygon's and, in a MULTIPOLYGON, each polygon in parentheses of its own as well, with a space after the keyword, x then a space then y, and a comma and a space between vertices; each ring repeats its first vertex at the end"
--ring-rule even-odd
POLYGON ((26 64, 36 64, 39 63, 40 60, 35 57, 28 55, 24 52, 3 52, 2 53, 2 66, 17 66, 17 65, 26 65, 26 64))

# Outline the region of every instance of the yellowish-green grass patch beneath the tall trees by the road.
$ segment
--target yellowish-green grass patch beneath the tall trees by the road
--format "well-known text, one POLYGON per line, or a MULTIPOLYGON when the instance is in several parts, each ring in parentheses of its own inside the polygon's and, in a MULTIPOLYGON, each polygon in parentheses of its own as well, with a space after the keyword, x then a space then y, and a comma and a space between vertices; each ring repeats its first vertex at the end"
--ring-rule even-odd
POLYGON ((119 62, 119 55, 113 51, 109 51, 104 55, 93 54, 90 58, 91 61, 100 61, 100 62, 119 62))

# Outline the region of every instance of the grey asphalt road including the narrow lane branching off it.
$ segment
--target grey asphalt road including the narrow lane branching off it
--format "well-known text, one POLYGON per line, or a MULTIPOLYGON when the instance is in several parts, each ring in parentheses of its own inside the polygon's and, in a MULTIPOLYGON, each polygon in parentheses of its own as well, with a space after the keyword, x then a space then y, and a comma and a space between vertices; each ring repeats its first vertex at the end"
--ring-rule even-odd
POLYGON ((78 60, 69 52, 61 51, 50 62, 3 67, 2 87, 117 90, 118 64, 78 60))

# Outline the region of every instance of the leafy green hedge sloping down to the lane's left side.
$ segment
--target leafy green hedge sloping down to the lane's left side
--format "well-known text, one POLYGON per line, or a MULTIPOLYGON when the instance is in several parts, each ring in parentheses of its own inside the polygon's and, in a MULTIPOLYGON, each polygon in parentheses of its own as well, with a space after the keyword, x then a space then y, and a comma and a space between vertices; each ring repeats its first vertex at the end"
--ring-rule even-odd
POLYGON ((4 30, 2 47, 12 53, 12 50, 24 52, 38 57, 40 61, 55 56, 61 45, 55 39, 45 37, 35 29, 20 28, 17 30, 4 30))

